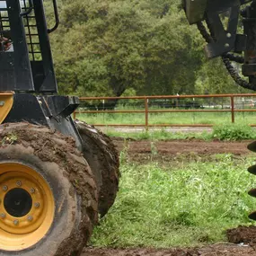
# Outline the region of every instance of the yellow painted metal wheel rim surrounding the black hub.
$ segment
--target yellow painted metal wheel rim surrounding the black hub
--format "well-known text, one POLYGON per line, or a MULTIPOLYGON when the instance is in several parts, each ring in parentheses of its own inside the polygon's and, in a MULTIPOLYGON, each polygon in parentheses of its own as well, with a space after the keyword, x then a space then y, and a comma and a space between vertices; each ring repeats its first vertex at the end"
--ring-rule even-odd
POLYGON ((40 173, 21 163, 0 163, 0 250, 21 251, 38 243, 49 231, 54 212, 52 191, 40 173), (4 208, 6 193, 16 188, 31 195, 26 216, 11 216, 4 208))

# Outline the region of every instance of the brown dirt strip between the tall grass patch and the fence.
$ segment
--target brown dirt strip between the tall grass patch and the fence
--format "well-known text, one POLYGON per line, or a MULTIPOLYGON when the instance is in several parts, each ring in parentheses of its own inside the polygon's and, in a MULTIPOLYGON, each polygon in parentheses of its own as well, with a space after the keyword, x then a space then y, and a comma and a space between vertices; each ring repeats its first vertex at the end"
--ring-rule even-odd
POLYGON ((250 154, 247 146, 252 141, 220 142, 200 140, 168 140, 150 142, 148 140, 134 141, 115 137, 114 143, 119 152, 126 150, 131 161, 146 163, 149 159, 168 163, 179 158, 213 158, 215 154, 250 154))

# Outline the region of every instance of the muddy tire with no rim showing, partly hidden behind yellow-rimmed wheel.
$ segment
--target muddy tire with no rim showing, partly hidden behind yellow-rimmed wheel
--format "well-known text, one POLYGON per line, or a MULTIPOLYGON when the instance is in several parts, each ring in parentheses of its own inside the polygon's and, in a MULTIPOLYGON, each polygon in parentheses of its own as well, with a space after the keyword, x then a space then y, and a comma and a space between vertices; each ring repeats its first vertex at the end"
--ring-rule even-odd
POLYGON ((119 154, 110 137, 100 130, 75 120, 83 139, 83 154, 89 163, 99 190, 99 213, 104 216, 113 205, 119 190, 119 154))

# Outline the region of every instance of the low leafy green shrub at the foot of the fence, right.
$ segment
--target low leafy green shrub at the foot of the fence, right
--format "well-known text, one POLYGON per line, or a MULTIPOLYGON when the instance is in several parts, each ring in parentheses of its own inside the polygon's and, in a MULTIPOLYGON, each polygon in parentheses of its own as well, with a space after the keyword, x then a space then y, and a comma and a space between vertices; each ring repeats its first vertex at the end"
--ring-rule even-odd
POLYGON ((225 124, 215 126, 212 137, 220 140, 254 139, 256 138, 256 132, 248 125, 225 124))

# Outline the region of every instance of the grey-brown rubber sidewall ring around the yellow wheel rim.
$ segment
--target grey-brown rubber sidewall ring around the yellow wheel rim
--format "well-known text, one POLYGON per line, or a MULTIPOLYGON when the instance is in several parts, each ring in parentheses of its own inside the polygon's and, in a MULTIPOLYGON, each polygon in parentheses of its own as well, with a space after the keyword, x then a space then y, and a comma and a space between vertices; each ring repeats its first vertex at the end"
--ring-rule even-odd
MULTIPOLYGON (((0 163, 22 163, 31 167, 44 178, 52 190, 55 201, 55 216, 49 232, 28 249, 20 252, 0 250, 0 256, 54 256, 59 245, 78 229, 81 221, 79 198, 68 181, 67 173, 57 163, 43 162, 33 154, 31 147, 9 145, 0 150, 0 163)), ((64 255, 66 256, 66 255, 64 255)))

